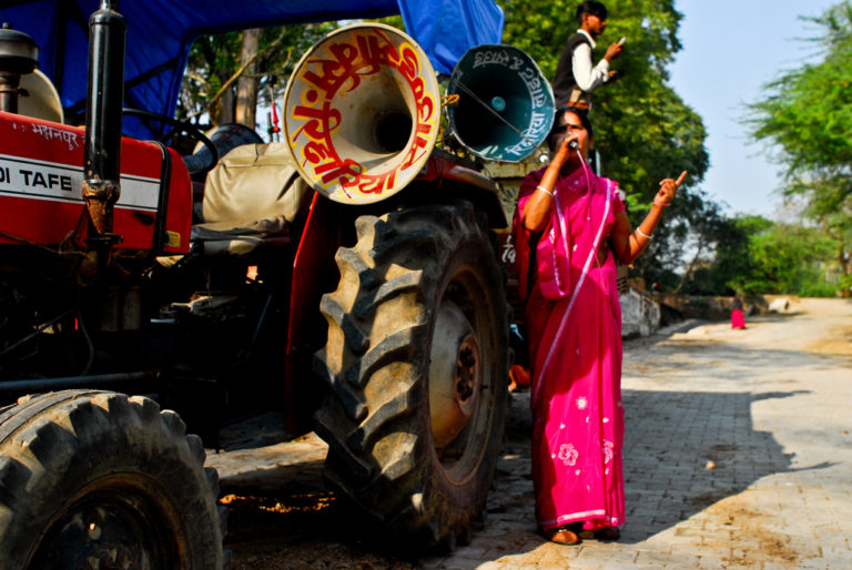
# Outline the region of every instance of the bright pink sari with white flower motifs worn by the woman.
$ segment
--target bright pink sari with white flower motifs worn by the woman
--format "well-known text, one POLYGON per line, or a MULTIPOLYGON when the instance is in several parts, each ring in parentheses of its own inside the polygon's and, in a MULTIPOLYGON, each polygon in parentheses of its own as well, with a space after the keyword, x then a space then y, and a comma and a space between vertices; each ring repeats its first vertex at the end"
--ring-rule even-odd
MULTIPOLYGON (((542 174, 524 181, 517 212, 542 174)), ((621 307, 612 254, 600 264, 596 251, 625 205, 615 182, 582 169, 560 179, 555 194, 531 275, 530 234, 515 216, 528 294, 536 517, 545 530, 577 521, 615 527, 625 521, 621 307)))

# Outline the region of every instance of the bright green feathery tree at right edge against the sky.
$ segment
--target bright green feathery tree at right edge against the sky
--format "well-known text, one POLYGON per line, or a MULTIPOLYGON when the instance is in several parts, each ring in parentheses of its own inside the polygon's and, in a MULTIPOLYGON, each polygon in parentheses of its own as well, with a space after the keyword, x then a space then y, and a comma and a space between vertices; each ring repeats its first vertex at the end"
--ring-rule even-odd
MULTIPOLYGON (((788 199, 803 196, 805 214, 836 241, 836 259, 850 279, 852 243, 852 3, 810 19, 824 35, 812 41, 821 61, 788 71, 750 105, 755 140, 773 144, 785 165, 788 199)), ((849 291, 846 287, 844 291, 849 291)))

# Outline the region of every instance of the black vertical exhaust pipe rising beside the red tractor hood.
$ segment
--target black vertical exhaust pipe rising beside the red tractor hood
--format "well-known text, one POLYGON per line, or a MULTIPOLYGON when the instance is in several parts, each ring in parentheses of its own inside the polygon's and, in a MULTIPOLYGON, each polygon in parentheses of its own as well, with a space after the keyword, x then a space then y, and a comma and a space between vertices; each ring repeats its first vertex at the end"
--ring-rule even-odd
POLYGON ((121 195, 126 23, 118 9, 118 0, 101 0, 89 19, 83 200, 91 221, 90 247, 104 253, 120 241, 112 233, 112 214, 121 195))

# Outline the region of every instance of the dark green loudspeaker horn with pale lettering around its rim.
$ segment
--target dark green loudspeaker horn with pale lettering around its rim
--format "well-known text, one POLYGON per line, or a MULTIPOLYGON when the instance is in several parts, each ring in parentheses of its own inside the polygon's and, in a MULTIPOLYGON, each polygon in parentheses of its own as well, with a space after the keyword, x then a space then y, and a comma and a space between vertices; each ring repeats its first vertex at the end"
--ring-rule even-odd
POLYGON ((464 54, 447 85, 458 102, 447 108, 456 139, 475 155, 520 162, 554 124, 550 83, 523 50, 479 45, 464 54))

